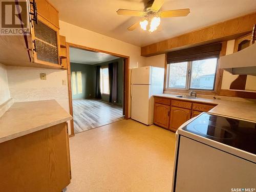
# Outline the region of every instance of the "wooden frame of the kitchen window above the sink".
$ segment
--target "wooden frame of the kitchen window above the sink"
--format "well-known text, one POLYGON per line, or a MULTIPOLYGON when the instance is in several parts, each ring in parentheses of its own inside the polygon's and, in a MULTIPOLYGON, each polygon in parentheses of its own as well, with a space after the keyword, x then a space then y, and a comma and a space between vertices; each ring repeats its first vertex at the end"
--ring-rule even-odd
MULTIPOLYGON (((165 56, 167 56, 167 54, 165 56)), ((216 69, 215 69, 215 79, 214 79, 214 85, 213 85, 212 90, 190 88, 191 69, 192 69, 192 62, 193 61, 183 61, 183 62, 187 62, 187 74, 186 74, 187 78, 186 78, 185 88, 170 88, 169 87, 169 77, 170 77, 170 74, 169 74, 170 65, 169 64, 171 64, 171 63, 167 63, 167 61, 165 61, 164 91, 185 92, 185 93, 188 93, 189 91, 196 91, 197 93, 202 93, 202 94, 216 94, 216 92, 217 92, 217 83, 218 83, 218 79, 219 79, 219 75, 220 75, 220 73, 219 73, 220 58, 219 57, 206 57, 206 58, 199 59, 199 60, 210 59, 210 58, 217 58, 217 64, 216 64, 216 69)))

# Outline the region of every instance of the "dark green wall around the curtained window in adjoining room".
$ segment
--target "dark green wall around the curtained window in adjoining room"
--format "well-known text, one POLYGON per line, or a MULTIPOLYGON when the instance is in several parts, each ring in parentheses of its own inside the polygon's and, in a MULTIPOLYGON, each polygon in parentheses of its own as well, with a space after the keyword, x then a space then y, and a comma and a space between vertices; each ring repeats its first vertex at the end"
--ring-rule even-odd
MULTIPOLYGON (((114 59, 111 61, 101 62, 95 64, 95 74, 96 74, 96 66, 106 66, 109 63, 118 62, 117 67, 117 104, 123 104, 123 58, 114 59)), ((95 83, 94 83, 95 84, 95 83)), ((101 95, 102 100, 109 102, 109 95, 101 95)))

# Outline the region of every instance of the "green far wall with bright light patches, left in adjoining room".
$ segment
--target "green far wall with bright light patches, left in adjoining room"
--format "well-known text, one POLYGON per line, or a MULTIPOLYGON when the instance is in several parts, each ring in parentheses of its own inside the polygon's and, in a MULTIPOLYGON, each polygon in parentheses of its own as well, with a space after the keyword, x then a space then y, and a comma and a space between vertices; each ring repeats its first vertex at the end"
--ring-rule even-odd
POLYGON ((73 99, 95 98, 96 72, 94 68, 93 65, 70 63, 73 99), (81 73, 81 79, 79 73, 81 73), (75 78, 73 75, 75 75, 75 78), (79 82, 81 82, 81 84, 79 82))

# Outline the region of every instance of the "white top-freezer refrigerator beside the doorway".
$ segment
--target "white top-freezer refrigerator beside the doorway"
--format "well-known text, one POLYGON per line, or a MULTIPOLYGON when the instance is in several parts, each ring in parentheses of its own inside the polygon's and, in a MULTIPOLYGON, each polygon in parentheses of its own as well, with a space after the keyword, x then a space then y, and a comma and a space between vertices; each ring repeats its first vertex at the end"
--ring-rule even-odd
POLYGON ((132 119, 146 125, 153 124, 154 97, 163 93, 164 68, 152 66, 132 70, 132 119))

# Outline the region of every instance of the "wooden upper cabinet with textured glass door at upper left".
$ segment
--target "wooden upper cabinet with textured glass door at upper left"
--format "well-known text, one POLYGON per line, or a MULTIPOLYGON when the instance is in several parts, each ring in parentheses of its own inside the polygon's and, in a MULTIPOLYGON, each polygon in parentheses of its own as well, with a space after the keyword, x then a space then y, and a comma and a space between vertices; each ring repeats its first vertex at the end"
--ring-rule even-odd
POLYGON ((31 4, 29 1, 27 3, 27 17, 32 20, 30 33, 0 35, 0 62, 7 66, 63 69, 60 62, 58 11, 46 0, 35 0, 36 6, 32 3, 32 0, 31 4))

